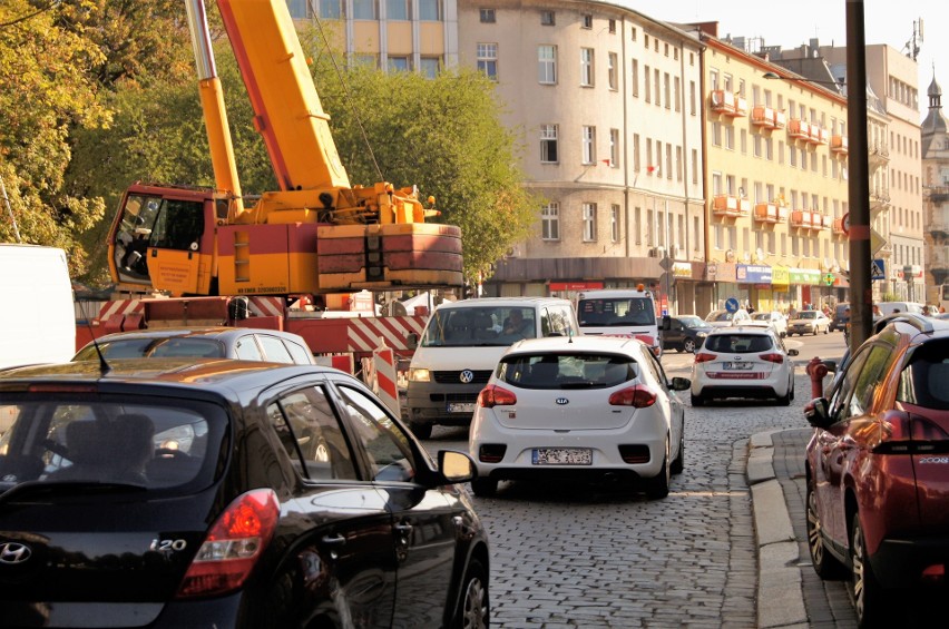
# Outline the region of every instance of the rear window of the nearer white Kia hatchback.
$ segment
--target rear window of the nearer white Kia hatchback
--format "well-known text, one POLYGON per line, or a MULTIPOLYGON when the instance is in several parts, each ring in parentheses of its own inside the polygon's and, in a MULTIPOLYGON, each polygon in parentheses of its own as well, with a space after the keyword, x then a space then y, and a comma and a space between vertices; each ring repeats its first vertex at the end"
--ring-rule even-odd
POLYGON ((521 389, 606 389, 637 375, 626 356, 517 354, 498 365, 498 380, 521 389))

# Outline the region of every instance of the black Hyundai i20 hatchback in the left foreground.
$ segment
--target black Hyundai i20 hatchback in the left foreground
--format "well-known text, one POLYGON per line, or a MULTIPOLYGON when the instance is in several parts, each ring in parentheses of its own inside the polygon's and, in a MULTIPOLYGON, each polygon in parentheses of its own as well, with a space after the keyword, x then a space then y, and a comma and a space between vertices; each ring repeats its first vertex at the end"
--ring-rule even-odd
POLYGON ((0 372, 0 626, 485 627, 466 454, 354 377, 239 361, 0 372))

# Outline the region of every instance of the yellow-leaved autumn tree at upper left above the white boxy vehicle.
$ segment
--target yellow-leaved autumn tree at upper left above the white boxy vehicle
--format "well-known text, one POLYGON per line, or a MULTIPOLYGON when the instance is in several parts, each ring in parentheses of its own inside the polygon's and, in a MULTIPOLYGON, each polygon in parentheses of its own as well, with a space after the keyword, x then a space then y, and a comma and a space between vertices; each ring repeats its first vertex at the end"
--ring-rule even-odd
POLYGON ((109 114, 87 72, 101 53, 60 28, 60 10, 57 2, 0 4, 0 177, 13 215, 4 207, 0 240, 13 242, 19 233, 23 242, 62 247, 76 274, 87 264, 77 236, 104 207, 62 189, 70 132, 107 125, 109 114))

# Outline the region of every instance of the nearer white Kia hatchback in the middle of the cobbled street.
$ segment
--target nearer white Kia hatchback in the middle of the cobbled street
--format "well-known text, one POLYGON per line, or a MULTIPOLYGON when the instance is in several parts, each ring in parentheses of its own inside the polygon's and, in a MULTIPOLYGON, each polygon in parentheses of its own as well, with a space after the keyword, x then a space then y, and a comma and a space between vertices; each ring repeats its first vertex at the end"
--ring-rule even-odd
POLYGON ((635 338, 521 341, 478 396, 469 451, 477 495, 500 480, 625 480, 665 498, 682 472, 685 410, 649 346, 635 338))

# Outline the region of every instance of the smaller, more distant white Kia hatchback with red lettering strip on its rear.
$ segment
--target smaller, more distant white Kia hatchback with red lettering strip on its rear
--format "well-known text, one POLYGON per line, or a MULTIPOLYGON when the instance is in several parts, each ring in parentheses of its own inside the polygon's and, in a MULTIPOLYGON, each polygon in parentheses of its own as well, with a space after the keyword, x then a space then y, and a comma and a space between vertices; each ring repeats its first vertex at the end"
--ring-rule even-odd
POLYGON ((794 362, 771 327, 717 327, 708 333, 692 365, 692 405, 725 397, 794 399, 794 362))

